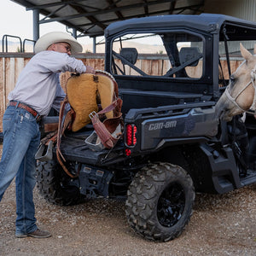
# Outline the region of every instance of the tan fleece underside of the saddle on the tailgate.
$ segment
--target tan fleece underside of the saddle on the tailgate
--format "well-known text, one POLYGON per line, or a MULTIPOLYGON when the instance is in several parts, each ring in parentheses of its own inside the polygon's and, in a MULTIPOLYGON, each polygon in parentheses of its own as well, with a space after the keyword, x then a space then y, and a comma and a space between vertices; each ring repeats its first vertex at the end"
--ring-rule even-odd
MULTIPOLYGON (((89 114, 108 107, 117 97, 117 84, 105 73, 82 73, 67 79, 67 100, 75 112, 72 131, 79 131, 90 124, 89 114)), ((113 118, 113 111, 106 113, 113 118)))

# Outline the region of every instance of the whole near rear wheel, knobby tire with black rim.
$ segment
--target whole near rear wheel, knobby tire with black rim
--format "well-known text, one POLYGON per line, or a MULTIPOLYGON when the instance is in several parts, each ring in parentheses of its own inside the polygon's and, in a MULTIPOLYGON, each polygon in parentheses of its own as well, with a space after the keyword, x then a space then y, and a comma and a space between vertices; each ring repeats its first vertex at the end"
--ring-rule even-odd
POLYGON ((128 223, 148 240, 169 241, 188 224, 195 201, 189 174, 169 163, 150 164, 134 177, 125 203, 128 223))

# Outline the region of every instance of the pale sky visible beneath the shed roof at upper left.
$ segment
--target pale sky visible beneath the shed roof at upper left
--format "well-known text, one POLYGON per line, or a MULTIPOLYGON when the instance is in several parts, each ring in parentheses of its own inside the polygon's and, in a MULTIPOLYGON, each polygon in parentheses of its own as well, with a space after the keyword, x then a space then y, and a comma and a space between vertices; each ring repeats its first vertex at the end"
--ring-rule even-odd
MULTIPOLYGON (((40 16, 42 19, 44 16, 40 16)), ((40 36, 47 32, 66 32, 66 26, 58 22, 42 24, 39 27, 40 36)), ((8 34, 24 39, 33 39, 32 10, 10 0, 0 0, 0 40, 3 35, 8 34)), ((81 44, 91 44, 92 39, 88 37, 79 38, 81 44)))

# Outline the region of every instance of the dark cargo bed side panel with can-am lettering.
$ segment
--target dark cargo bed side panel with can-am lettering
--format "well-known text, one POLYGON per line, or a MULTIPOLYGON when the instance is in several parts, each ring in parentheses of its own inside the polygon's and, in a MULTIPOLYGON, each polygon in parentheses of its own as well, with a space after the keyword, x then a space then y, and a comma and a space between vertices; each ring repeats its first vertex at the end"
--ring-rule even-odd
MULTIPOLYGON (((173 144, 206 141, 218 132, 218 120, 213 119, 214 104, 201 102, 131 109, 125 118, 125 125, 136 126, 136 143, 126 142, 125 146, 135 153, 173 144)), ((127 131, 125 137, 131 137, 127 131)))

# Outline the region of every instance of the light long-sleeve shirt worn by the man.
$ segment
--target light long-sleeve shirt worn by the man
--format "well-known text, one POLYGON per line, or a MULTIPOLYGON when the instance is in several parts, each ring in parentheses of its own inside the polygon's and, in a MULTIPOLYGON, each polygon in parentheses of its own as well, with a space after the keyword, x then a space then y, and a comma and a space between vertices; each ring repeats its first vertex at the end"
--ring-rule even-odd
POLYGON ((45 50, 34 55, 20 73, 9 101, 24 102, 40 115, 47 115, 55 98, 63 96, 59 82, 61 72, 85 73, 83 61, 66 53, 45 50))

